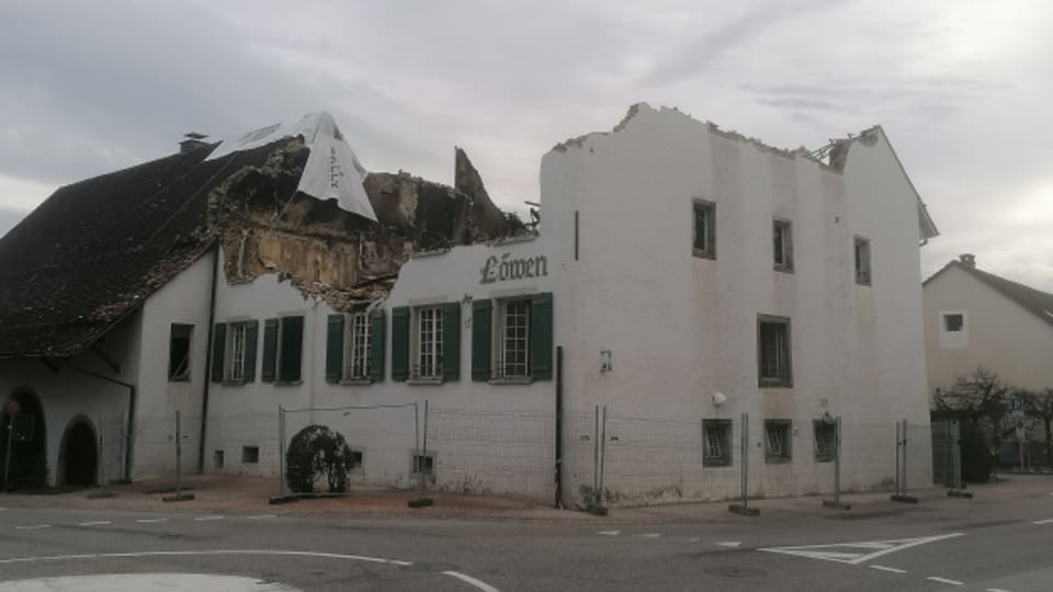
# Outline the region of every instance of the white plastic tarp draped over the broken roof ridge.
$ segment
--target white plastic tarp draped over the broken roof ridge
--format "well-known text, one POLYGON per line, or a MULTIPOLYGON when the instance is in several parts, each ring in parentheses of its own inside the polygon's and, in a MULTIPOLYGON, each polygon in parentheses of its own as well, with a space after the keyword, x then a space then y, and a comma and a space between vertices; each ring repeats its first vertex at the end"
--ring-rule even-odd
POLYGON ((318 200, 336 200, 341 208, 376 221, 370 197, 362 186, 365 169, 328 113, 312 113, 295 122, 269 125, 225 139, 207 160, 296 136, 303 136, 310 150, 296 189, 318 200))

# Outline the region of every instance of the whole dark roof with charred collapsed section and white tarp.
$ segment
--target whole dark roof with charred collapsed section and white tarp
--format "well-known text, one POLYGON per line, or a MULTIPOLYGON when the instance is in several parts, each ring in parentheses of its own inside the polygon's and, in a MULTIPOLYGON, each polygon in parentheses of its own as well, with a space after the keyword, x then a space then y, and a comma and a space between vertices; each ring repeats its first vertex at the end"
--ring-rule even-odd
MULTIPOLYGON (((314 121, 325 128, 327 118, 314 121)), ((288 129, 234 149, 202 143, 56 191, 0 238, 0 358, 83 351, 217 243, 228 282, 276 273, 349 310, 384 297, 414 251, 521 231, 460 149, 464 191, 365 173, 335 124, 329 137, 288 129), (316 170, 333 179, 320 189, 318 155, 316 170)))

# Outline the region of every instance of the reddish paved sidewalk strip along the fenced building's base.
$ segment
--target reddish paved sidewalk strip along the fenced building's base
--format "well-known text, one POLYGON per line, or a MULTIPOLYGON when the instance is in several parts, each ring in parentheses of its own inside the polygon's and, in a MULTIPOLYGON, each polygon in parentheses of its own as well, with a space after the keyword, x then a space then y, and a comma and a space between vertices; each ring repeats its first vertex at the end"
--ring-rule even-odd
MULTIPOLYGON (((642 508, 614 508, 608 516, 596 516, 577 510, 558 510, 534 501, 490 496, 467 496, 430 492, 434 500, 429 508, 412 509, 408 502, 418 498, 416 491, 393 491, 362 488, 348 497, 305 499, 285 504, 271 504, 278 494, 276 478, 235 477, 226 475, 191 476, 184 480, 190 501, 165 502, 171 492, 159 490, 172 487, 170 480, 140 481, 132 485, 48 494, 0 494, 0 506, 9 511, 18 508, 67 508, 84 510, 126 510, 151 512, 188 512, 223 514, 310 515, 339 514, 374 517, 435 517, 483 521, 579 522, 597 524, 668 524, 722 523, 756 520, 784 520, 802 515, 846 513, 822 506, 823 496, 750 500, 751 508, 760 509, 759 517, 745 517, 727 511, 729 502, 678 503, 642 508)), ((944 489, 912 491, 921 505, 1005 503, 1018 499, 1053 496, 1053 475, 1005 475, 1001 480, 971 486, 973 500, 949 499, 944 489)), ((890 501, 888 492, 856 493, 841 497, 852 505, 848 513, 874 514, 907 511, 914 504, 890 501)))

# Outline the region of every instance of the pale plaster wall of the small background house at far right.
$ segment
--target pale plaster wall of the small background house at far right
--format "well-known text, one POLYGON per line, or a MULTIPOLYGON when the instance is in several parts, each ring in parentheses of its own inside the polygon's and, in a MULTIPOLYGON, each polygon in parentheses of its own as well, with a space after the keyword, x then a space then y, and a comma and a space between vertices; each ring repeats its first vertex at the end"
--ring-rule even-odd
POLYGON ((1053 326, 1000 293, 951 265, 925 285, 925 343, 928 385, 948 388, 977 366, 994 371, 1015 386, 1053 387, 1053 326), (941 312, 963 312, 964 343, 941 346, 941 312))

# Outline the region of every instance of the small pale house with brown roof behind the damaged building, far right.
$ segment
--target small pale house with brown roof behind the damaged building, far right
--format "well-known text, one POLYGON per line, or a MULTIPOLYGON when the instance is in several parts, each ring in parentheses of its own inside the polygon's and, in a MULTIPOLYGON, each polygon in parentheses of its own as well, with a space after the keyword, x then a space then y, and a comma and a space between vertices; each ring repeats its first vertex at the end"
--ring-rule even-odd
POLYGON ((922 293, 930 392, 980 366, 1016 387, 1053 387, 1053 294, 980 270, 967 253, 922 293))

